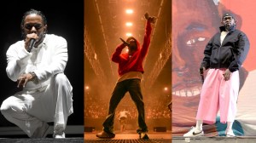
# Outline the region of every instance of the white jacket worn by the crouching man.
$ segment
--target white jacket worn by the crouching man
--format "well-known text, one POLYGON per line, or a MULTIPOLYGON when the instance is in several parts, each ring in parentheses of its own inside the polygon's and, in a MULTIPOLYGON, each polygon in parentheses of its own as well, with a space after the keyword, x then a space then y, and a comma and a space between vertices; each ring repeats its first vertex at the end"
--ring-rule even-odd
POLYGON ((64 72, 67 65, 67 41, 54 34, 46 34, 43 43, 33 48, 31 53, 25 49, 25 42, 12 44, 7 53, 8 77, 16 82, 22 73, 35 72, 38 83, 26 83, 26 90, 42 89, 49 84, 50 77, 64 72))

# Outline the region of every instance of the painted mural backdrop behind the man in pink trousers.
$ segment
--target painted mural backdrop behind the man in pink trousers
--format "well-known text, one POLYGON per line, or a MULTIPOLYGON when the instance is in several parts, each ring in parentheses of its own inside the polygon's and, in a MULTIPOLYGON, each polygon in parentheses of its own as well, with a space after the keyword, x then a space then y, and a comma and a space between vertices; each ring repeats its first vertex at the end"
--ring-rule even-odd
MULTIPOLYGON (((252 27, 256 22, 251 18, 252 2, 241 6, 233 0, 172 0, 172 134, 181 134, 184 127, 195 126, 202 87, 199 68, 203 52, 210 38, 219 31, 225 12, 235 15, 236 29, 244 31, 250 40, 251 48, 239 74, 240 89, 251 89, 249 82, 255 74, 248 73, 256 72, 253 47, 256 40, 252 27), (251 10, 247 10, 249 8, 251 10)), ((207 71, 205 77, 206 74, 207 71)), ((254 92, 246 90, 246 93, 251 95, 254 92)), ((214 126, 207 129, 206 132, 217 133, 214 126)))

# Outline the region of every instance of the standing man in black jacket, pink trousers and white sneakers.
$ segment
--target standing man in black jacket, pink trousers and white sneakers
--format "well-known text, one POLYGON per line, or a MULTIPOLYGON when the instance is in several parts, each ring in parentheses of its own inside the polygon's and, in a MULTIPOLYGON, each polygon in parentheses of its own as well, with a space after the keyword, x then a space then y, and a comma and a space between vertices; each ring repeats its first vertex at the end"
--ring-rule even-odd
POLYGON ((220 32, 207 43, 200 71, 207 77, 201 89, 201 99, 196 115, 196 126, 183 136, 204 134, 202 123, 227 123, 226 136, 235 136, 232 125, 236 117, 236 100, 239 92, 239 69, 250 47, 247 35, 236 30, 236 19, 227 13, 222 17, 220 32))

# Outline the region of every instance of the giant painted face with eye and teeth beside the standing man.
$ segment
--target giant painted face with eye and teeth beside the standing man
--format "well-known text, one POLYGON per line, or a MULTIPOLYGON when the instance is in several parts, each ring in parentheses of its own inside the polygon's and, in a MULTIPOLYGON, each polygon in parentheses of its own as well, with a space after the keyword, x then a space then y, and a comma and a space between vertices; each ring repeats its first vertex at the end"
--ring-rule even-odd
POLYGON ((212 0, 172 1, 172 94, 200 94, 203 50, 220 20, 212 0), (200 2, 200 3, 199 3, 200 2), (215 10, 215 11, 214 11, 215 10))

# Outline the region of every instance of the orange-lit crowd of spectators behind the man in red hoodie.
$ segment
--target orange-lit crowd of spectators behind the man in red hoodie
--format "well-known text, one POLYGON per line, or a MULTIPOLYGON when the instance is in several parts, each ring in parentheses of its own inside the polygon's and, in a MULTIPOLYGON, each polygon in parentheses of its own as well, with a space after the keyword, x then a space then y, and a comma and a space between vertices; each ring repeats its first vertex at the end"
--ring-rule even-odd
MULTIPOLYGON (((171 111, 168 108, 169 96, 144 100, 146 119, 171 118, 171 111)), ((125 95, 116 109, 116 115, 123 111, 130 112, 128 119, 137 119, 137 109, 129 94, 125 95)), ((84 100, 85 118, 105 118, 108 115, 108 100, 87 96, 84 100)), ((117 116, 116 116, 117 117, 117 116)))

